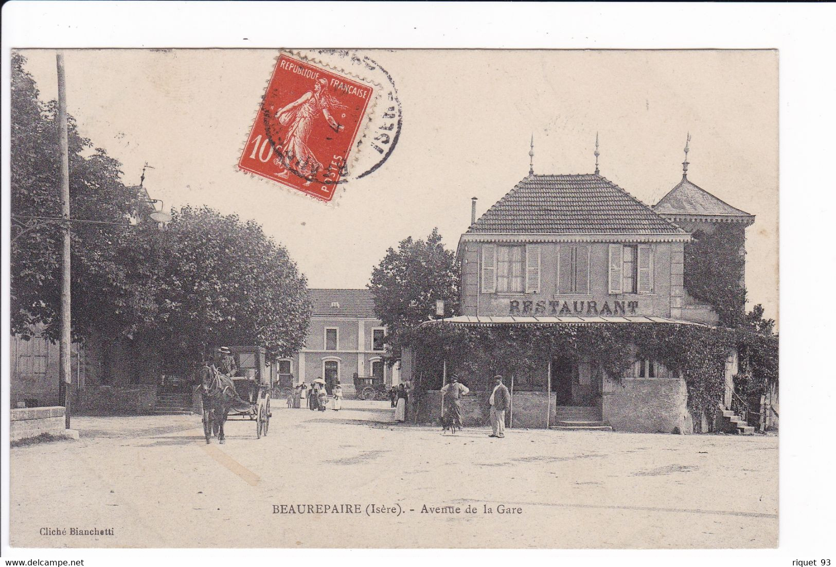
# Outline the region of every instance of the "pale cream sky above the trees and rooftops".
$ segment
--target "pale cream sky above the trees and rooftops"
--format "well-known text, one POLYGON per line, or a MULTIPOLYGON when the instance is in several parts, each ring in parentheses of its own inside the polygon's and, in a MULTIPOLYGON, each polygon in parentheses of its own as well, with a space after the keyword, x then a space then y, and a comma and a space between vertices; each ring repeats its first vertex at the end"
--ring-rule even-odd
MULTIPOLYGON (((362 288, 386 249, 438 227, 455 249, 477 214, 528 174, 601 175, 653 204, 688 178, 756 215, 748 304, 777 319, 778 106, 774 51, 368 50, 402 107, 379 169, 331 205, 237 170, 278 49, 65 50, 79 130, 145 174, 165 207, 206 204, 263 224, 312 288, 362 288)), ((55 52, 23 50, 43 100, 55 52)), ((380 112, 380 104, 372 110, 380 112)), ((370 122, 372 124, 372 122, 370 122)))

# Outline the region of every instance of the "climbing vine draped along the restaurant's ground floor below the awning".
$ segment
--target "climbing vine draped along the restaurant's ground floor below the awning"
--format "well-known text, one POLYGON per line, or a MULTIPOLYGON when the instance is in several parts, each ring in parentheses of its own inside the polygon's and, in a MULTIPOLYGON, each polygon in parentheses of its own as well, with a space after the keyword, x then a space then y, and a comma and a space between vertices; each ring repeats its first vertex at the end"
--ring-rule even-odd
MULTIPOLYGON (((636 359, 650 359, 684 378, 688 407, 710 414, 725 391, 725 367, 736 346, 759 345, 746 330, 693 324, 590 324, 458 327, 424 325, 411 337, 421 390, 441 386, 441 368, 485 389, 494 374, 523 375, 555 356, 591 360, 619 380, 636 359), (635 345, 635 354, 630 345, 635 345)), ((777 376, 777 365, 775 374, 777 376)))

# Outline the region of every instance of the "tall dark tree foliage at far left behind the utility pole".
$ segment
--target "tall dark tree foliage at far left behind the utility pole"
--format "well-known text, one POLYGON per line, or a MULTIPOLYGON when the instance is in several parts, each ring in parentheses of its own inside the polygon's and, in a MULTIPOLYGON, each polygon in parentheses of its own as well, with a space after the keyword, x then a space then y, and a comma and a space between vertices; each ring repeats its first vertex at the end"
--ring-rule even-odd
MULTIPOLYGON (((31 74, 23 69, 25 59, 12 56, 11 146, 12 213, 26 227, 37 221, 25 217, 59 217, 59 127, 55 101, 42 103, 31 74)), ((123 227, 74 224, 72 230, 73 328, 76 336, 91 329, 98 295, 110 290, 89 285, 90 268, 114 260, 111 245, 130 229, 128 217, 136 194, 120 181, 120 163, 79 135, 75 120, 68 117, 69 189, 72 217, 118 222, 123 227)), ((23 227, 18 225, 13 236, 23 227)), ((61 270, 61 227, 47 223, 17 238, 11 255, 11 329, 28 337, 32 325, 43 335, 57 339, 61 270)))

